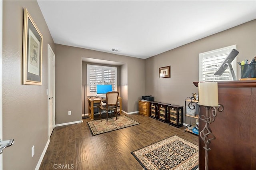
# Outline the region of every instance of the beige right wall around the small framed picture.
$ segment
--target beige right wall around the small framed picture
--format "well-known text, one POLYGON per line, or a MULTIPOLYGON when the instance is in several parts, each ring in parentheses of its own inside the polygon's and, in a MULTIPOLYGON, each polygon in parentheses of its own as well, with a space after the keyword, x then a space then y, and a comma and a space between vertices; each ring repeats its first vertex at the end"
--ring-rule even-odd
MULTIPOLYGON (((234 44, 239 51, 237 61, 256 55, 256 20, 146 59, 146 94, 156 101, 184 106, 186 97, 198 94, 193 84, 198 81, 198 54, 234 44), (171 77, 160 79, 159 67, 168 65, 171 77)), ((236 75, 239 79, 238 64, 236 75)))

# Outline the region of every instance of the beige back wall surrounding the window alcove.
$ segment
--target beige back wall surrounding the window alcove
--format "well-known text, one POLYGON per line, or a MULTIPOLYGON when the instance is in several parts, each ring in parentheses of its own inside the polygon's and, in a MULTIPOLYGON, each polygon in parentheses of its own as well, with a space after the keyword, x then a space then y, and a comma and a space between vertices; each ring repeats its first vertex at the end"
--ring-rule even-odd
POLYGON ((126 100, 129 101, 127 112, 138 111, 138 100, 145 92, 144 59, 60 44, 56 44, 55 49, 56 124, 82 120, 83 84, 85 83, 82 82, 84 77, 82 76, 82 57, 126 63, 128 72, 126 100), (72 115, 68 115, 68 111, 72 111, 72 115))

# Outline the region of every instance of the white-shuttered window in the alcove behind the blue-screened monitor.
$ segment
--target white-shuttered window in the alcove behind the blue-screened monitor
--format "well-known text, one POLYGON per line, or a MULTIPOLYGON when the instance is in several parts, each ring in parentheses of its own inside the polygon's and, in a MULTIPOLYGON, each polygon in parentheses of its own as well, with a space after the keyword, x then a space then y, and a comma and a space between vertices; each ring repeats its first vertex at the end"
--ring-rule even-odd
POLYGON ((112 91, 117 91, 116 67, 87 65, 87 95, 95 96, 96 85, 112 85, 112 91))

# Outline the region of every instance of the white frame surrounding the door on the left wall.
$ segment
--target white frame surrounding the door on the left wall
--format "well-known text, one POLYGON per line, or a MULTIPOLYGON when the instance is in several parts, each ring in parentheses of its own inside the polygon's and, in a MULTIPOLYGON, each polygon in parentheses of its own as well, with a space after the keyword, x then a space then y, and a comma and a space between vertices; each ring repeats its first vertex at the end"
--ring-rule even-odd
MULTIPOLYGON (((52 76, 53 76, 53 89, 52 89, 52 94, 53 94, 53 113, 52 113, 52 116, 53 116, 53 119, 54 119, 54 127, 55 127, 55 54, 52 50, 52 47, 50 46, 50 44, 48 44, 48 90, 50 89, 50 55, 53 56, 53 70, 52 70, 52 76)), ((50 100, 49 100, 49 91, 47 92, 48 93, 48 138, 50 139, 50 136, 52 134, 52 132, 50 132, 50 100)))

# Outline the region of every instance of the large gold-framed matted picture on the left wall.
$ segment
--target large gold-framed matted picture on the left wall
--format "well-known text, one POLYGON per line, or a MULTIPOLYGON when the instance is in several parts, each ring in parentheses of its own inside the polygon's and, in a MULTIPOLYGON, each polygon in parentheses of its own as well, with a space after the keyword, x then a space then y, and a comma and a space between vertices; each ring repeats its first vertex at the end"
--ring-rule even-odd
POLYGON ((43 36, 24 8, 22 84, 42 85, 43 36))

